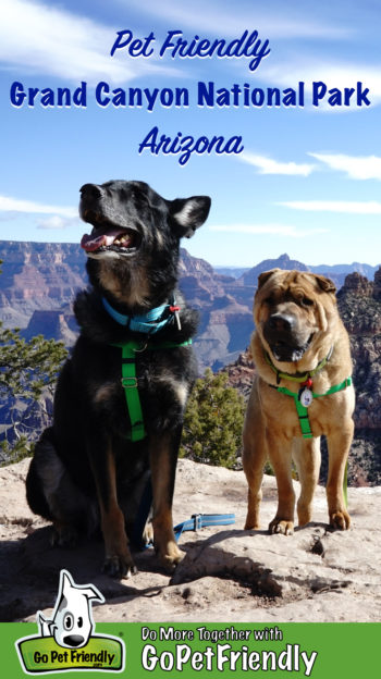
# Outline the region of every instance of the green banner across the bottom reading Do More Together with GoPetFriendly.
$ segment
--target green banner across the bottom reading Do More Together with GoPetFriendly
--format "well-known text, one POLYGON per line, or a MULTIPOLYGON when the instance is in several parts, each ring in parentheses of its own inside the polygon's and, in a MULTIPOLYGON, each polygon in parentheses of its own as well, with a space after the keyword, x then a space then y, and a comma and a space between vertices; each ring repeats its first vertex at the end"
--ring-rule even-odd
POLYGON ((83 649, 36 635, 35 624, 1 624, 2 676, 75 677, 97 671, 142 679, 235 672, 358 679, 379 672, 380 624, 99 624, 83 649), (29 638, 28 638, 29 634, 29 638), (111 638, 110 638, 111 637, 111 638), (124 657, 125 653, 125 657, 124 657))

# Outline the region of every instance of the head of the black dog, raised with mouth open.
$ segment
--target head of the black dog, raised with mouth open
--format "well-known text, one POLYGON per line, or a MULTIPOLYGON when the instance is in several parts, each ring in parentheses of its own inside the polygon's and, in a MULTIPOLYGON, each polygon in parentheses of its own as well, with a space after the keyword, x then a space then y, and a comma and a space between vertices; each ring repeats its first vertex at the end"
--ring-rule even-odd
POLYGON ((193 236, 209 209, 207 196, 165 200, 144 182, 85 184, 79 214, 93 231, 81 246, 93 285, 121 303, 149 305, 165 281, 173 287, 180 239, 193 236))

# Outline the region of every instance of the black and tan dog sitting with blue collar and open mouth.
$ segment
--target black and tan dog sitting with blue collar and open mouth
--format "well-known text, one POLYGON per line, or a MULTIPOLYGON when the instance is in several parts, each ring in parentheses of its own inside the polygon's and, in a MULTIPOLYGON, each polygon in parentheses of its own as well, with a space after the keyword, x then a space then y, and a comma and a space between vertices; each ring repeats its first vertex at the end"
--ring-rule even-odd
POLYGON ((198 314, 176 288, 180 238, 208 217, 210 198, 165 200, 143 182, 85 184, 79 213, 91 287, 74 311, 81 335, 61 371, 53 425, 26 481, 59 544, 101 527, 105 570, 128 576, 130 531, 149 470, 153 544, 181 560, 172 497, 183 416, 196 378, 189 346, 198 314))

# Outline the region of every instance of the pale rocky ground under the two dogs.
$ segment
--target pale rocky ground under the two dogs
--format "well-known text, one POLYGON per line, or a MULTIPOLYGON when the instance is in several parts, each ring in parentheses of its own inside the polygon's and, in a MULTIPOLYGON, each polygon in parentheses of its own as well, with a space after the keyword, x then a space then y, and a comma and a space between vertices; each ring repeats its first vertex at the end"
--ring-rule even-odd
MULTIPOLYGON (((134 555, 138 572, 112 580, 100 572, 100 541, 74 550, 50 546, 50 528, 25 501, 28 460, 0 469, 0 621, 49 616, 59 572, 95 584, 106 603, 96 621, 379 621, 381 619, 381 487, 349 489, 353 527, 331 532, 324 489, 315 498, 314 523, 294 535, 265 528, 276 505, 274 479, 266 477, 263 530, 244 531, 246 480, 241 471, 180 460, 174 522, 192 514, 235 514, 233 526, 186 532, 185 557, 163 572, 153 550, 134 555)), ((297 492, 297 483, 295 483, 297 492)))

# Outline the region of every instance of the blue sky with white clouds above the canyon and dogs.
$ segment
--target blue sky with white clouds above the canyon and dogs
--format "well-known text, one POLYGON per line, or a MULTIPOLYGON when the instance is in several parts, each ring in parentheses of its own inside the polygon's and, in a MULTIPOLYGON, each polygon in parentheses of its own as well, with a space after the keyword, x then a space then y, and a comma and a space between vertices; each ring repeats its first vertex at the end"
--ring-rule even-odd
MULTIPOLYGON (((188 251, 214 266, 250 267, 288 252, 306 263, 381 261, 381 5, 364 0, 1 0, 0 238, 79 242, 78 189, 87 182, 134 178, 165 198, 207 194, 212 209, 188 251), (110 51, 120 30, 153 34, 149 57, 110 51), (270 53, 160 57, 168 32, 226 45, 258 32, 270 53), (87 107, 12 106, 10 89, 86 83, 87 107), (188 107, 99 106, 110 89, 186 88, 188 107), (297 89, 305 106, 199 107, 197 83, 249 91, 297 89), (312 83, 328 90, 369 89, 370 106, 311 106, 312 83), (172 139, 241 136, 234 155, 138 152, 155 126, 172 139)), ((137 49, 137 48, 136 48, 137 49)))

